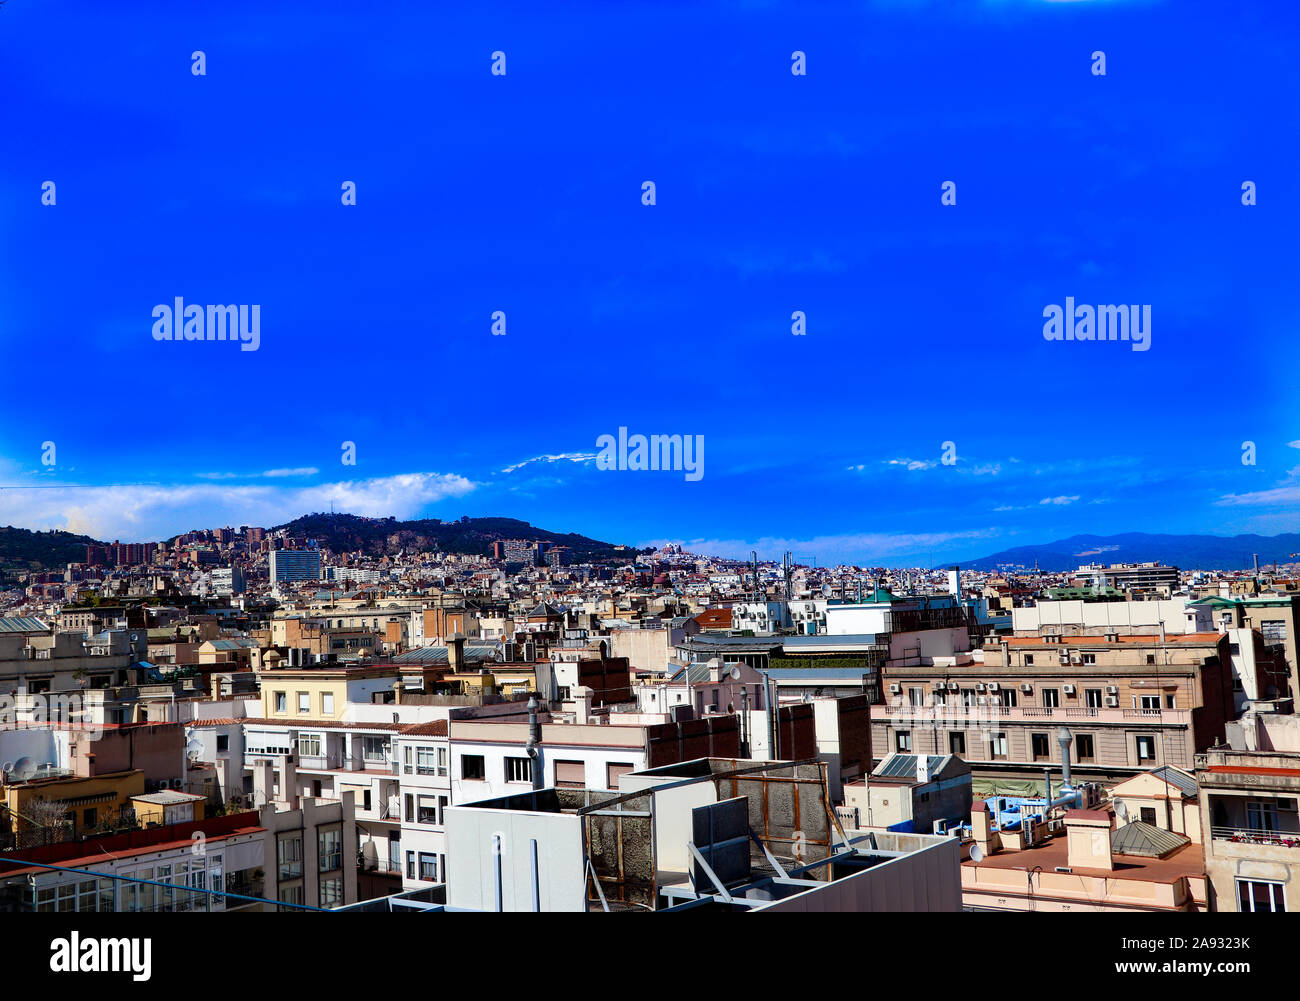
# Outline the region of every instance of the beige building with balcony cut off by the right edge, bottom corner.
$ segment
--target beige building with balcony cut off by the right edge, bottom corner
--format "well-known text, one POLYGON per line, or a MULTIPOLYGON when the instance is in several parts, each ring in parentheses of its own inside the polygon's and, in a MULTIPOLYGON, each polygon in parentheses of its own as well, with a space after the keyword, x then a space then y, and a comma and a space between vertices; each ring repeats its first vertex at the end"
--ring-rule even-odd
POLYGON ((1300 753, 1210 748, 1196 783, 1214 909, 1300 910, 1300 753))

